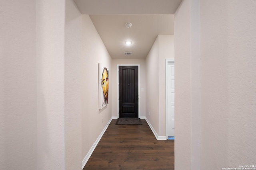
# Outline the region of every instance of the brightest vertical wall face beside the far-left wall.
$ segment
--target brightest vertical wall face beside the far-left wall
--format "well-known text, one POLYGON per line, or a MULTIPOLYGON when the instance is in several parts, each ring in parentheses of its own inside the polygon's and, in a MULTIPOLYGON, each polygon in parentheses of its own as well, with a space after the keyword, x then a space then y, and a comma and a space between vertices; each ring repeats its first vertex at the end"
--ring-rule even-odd
POLYGON ((38 169, 65 168, 63 0, 36 2, 38 169))

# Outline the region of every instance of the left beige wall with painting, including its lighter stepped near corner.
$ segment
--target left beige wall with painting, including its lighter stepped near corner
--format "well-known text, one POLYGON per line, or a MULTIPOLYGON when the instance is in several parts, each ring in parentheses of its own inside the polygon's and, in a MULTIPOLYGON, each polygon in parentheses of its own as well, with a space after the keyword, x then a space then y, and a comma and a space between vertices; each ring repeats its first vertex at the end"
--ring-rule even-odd
POLYGON ((98 63, 111 72, 112 59, 72 0, 51 2, 37 4, 38 167, 80 169, 112 117, 112 105, 98 108, 98 63))

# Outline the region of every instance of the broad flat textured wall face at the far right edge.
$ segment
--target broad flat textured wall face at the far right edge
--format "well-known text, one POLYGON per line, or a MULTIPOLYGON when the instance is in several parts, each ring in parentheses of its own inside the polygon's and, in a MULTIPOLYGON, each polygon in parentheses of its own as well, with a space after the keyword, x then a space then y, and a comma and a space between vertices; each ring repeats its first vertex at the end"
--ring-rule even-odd
POLYGON ((255 164, 256 2, 200 5, 201 169, 255 164))

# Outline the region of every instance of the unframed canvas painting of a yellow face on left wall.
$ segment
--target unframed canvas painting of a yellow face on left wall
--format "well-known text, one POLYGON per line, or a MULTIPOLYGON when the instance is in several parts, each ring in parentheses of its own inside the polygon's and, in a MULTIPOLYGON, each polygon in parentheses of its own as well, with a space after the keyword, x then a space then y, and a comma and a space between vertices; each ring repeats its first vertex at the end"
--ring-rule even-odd
POLYGON ((108 105, 108 69, 99 63, 99 109, 108 105))

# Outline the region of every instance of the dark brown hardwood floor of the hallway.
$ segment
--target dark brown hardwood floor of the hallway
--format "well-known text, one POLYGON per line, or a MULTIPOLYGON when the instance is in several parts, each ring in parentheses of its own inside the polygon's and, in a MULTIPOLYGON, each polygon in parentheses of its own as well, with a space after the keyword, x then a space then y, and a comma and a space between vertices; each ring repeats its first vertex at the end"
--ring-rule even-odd
POLYGON ((158 141, 143 125, 113 119, 83 170, 174 170, 174 141, 158 141))

